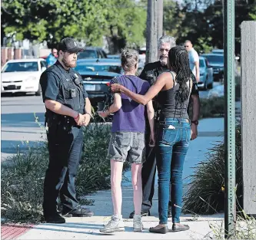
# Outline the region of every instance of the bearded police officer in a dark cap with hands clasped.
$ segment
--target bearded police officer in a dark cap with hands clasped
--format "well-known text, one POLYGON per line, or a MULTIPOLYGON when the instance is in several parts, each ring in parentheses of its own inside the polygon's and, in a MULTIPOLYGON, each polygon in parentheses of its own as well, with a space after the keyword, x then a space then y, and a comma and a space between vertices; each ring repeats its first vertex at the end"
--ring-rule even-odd
POLYGON ((83 209, 75 194, 75 176, 81 159, 82 126, 91 119, 91 103, 76 66, 82 48, 72 38, 58 44, 58 60, 40 78, 42 97, 46 107, 49 164, 45 173, 43 213, 46 222, 65 223, 57 212, 60 195, 62 215, 91 216, 83 209))

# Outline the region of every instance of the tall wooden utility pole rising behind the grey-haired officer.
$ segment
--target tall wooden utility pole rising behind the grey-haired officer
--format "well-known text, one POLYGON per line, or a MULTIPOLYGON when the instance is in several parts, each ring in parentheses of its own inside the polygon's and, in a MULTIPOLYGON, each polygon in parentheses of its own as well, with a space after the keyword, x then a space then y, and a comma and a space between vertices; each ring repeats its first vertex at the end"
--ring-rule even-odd
POLYGON ((163 0, 148 0, 146 64, 158 60, 158 38, 163 32, 163 0))

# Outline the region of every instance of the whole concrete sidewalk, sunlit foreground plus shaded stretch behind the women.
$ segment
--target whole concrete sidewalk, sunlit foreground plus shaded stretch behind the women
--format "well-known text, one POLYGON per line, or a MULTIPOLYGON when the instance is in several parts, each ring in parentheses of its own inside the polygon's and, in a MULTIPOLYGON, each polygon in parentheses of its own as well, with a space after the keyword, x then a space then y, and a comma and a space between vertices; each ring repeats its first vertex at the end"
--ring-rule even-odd
MULTIPOLYGON (((223 140, 224 119, 204 119, 200 120, 198 126, 198 138, 191 141, 188 156, 184 166, 184 192, 188 190, 187 176, 191 175, 196 163, 206 159, 205 153, 215 143, 223 140)), ((131 179, 131 172, 125 173, 128 179, 131 179)), ((185 232, 169 232, 168 234, 152 234, 148 228, 158 225, 158 186, 157 178, 155 182, 155 196, 151 209, 151 216, 143 217, 143 232, 133 232, 132 219, 128 215, 133 210, 132 187, 131 182, 123 182, 123 205, 122 214, 125 221, 125 232, 115 234, 102 234, 99 229, 108 222, 112 214, 111 191, 99 191, 86 196, 87 199, 95 200, 94 205, 89 206, 95 212, 91 218, 68 218, 62 225, 42 223, 34 225, 23 235, 16 239, 198 239, 207 238, 211 235, 210 225, 221 225, 224 214, 201 215, 197 218, 192 214, 181 215, 181 223, 190 226, 190 230, 185 232)), ((171 229, 171 219, 168 226, 171 229)))

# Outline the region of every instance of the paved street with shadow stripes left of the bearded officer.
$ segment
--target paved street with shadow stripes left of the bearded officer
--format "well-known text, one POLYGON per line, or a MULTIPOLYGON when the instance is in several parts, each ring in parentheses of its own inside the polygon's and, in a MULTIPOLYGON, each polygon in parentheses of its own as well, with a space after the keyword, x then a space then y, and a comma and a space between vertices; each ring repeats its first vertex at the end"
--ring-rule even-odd
MULTIPOLYGON (((214 82, 214 87, 217 85, 218 83, 214 82)), ((200 97, 205 98, 207 95, 208 90, 200 91, 200 97)), ((28 141, 30 146, 34 146, 44 140, 44 131, 35 122, 34 113, 43 125, 45 106, 42 97, 2 96, 2 159, 16 153, 17 145, 25 149, 26 143, 22 141, 28 141)))

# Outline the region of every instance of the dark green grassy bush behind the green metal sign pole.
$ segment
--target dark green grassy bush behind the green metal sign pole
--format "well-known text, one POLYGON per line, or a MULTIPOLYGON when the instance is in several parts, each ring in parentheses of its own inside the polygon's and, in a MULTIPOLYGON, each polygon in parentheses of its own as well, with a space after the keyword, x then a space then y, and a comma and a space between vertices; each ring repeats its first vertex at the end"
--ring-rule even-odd
MULTIPOLYGON (((235 134, 236 195, 242 208, 241 129, 235 134)), ((189 176, 188 192, 184 199, 184 211, 213 214, 224 211, 224 143, 218 143, 207 155, 208 160, 194 167, 189 176)))

